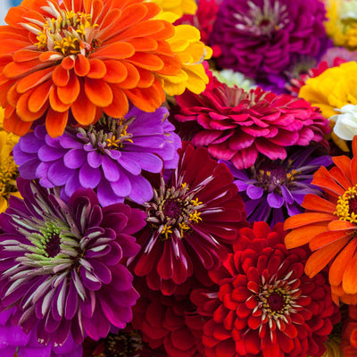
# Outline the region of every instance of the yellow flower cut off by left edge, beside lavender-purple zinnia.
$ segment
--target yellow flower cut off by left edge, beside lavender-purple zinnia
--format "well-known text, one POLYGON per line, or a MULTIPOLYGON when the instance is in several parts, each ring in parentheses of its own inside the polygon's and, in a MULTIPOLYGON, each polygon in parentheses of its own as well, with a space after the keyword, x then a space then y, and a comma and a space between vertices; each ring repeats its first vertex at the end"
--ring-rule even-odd
POLYGON ((0 213, 6 210, 10 195, 21 197, 16 186, 19 171, 12 158, 12 148, 19 137, 4 131, 3 120, 4 109, 0 108, 0 213))

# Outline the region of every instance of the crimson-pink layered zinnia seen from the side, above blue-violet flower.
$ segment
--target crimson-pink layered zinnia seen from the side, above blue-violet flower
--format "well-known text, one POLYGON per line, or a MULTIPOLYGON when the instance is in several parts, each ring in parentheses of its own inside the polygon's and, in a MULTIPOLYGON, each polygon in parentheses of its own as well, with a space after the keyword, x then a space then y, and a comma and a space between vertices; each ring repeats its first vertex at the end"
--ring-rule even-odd
POLYGON ((258 154, 285 159, 286 146, 320 142, 329 132, 328 120, 308 102, 260 87, 245 92, 213 78, 201 95, 187 92, 177 102, 175 119, 197 124, 193 144, 239 170, 252 166, 258 154))

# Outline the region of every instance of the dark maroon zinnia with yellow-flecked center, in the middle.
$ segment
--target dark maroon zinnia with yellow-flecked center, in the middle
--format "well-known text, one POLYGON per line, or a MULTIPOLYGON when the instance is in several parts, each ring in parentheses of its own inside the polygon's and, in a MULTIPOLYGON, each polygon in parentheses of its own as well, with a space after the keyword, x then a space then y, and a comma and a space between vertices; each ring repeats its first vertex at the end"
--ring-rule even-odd
POLYGON ((186 144, 179 153, 178 168, 166 182, 161 177, 153 200, 145 203, 147 224, 133 262, 135 274, 164 295, 193 275, 205 282, 206 270, 226 258, 228 245, 237 242, 239 228, 246 225, 228 167, 205 148, 186 144))

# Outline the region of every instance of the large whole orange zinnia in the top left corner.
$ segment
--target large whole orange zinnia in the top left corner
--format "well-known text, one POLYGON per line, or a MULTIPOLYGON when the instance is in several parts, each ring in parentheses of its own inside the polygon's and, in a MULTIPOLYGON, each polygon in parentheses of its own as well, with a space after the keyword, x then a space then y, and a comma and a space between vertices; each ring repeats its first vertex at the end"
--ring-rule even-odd
POLYGON ((165 100, 156 75, 175 75, 182 63, 167 42, 174 27, 143 1, 23 0, 12 8, 0 27, 4 128, 22 136, 46 115, 57 137, 69 115, 81 125, 103 112, 120 118, 129 101, 154 112, 165 100))

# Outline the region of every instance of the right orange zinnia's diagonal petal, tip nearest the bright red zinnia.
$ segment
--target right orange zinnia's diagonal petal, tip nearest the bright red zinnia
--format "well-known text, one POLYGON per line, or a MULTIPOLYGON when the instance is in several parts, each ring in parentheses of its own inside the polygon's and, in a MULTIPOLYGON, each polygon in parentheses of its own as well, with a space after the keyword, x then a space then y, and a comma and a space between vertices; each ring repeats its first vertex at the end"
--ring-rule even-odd
POLYGON ((312 253, 306 262, 305 273, 310 278, 314 277, 328 265, 328 262, 337 255, 349 240, 350 237, 345 237, 312 253))

